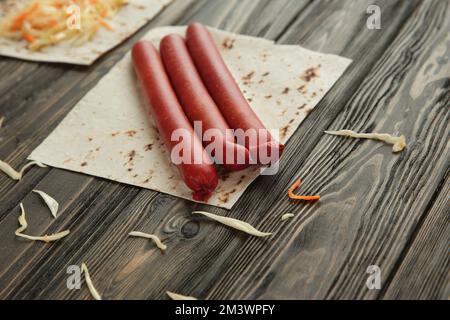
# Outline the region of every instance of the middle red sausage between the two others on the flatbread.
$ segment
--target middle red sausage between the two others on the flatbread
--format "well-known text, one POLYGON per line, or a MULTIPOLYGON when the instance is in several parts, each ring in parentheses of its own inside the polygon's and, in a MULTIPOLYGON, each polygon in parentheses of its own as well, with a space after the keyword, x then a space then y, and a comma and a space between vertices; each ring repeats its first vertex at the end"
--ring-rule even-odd
MULTIPOLYGON (((161 58, 172 81, 173 88, 191 123, 200 122, 202 135, 211 129, 214 143, 204 141, 204 146, 220 146, 219 152, 211 150, 218 164, 224 164, 229 171, 243 170, 249 166, 248 150, 234 141, 229 134, 230 127, 208 93, 200 75, 195 69, 184 39, 179 35, 169 35, 162 39, 161 58)), ((216 150, 217 151, 217 150, 216 150)))

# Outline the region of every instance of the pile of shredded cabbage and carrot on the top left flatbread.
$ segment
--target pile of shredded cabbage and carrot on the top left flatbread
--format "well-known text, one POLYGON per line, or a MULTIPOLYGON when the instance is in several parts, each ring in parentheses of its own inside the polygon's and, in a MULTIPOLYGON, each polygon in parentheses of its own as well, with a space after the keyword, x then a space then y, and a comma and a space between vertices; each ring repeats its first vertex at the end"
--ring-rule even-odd
POLYGON ((126 0, 30 1, 4 17, 0 36, 26 41, 31 51, 62 41, 78 46, 92 39, 101 28, 113 30, 109 20, 125 4, 126 0))

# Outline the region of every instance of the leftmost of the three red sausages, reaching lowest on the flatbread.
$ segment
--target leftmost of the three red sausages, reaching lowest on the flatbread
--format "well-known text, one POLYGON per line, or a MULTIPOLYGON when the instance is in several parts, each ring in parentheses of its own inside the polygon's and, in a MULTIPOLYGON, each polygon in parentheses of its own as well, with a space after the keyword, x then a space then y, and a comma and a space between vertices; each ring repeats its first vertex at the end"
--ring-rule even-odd
POLYGON ((186 185, 194 191, 194 200, 206 201, 217 187, 217 172, 178 102, 157 49, 150 42, 138 42, 133 47, 132 58, 150 114, 167 149, 172 153, 175 147, 180 147, 180 142, 172 139, 175 130, 181 129, 187 135, 180 155, 189 160, 177 167, 186 185))

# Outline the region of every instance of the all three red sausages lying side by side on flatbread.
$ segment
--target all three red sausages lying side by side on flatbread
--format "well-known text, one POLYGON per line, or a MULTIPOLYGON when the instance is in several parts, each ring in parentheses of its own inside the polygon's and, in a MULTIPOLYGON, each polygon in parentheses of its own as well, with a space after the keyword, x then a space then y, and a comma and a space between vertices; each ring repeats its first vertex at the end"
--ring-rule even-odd
POLYGON ((181 158, 175 163, 194 191, 194 200, 207 201, 217 187, 210 156, 229 171, 260 163, 261 152, 278 161, 284 146, 249 106, 206 27, 189 26, 186 41, 177 35, 166 36, 160 51, 161 55, 150 42, 138 42, 132 50, 133 64, 172 162, 174 156, 181 158), (201 132, 194 132, 192 124, 201 124, 201 132), (230 128, 266 134, 236 143, 230 128), (203 136, 211 131, 212 141, 205 141, 205 150, 196 133, 203 136))

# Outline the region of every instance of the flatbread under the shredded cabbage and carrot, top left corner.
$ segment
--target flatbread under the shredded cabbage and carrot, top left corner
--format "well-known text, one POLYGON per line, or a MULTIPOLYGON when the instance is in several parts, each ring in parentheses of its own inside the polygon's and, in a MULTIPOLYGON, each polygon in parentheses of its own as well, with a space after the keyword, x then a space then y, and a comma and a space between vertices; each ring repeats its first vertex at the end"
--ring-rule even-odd
MULTIPOLYGON (((14 41, 0 37, 0 55, 40 62, 58 62, 77 65, 91 65, 103 54, 119 45, 154 18, 173 0, 129 0, 117 15, 108 22, 115 30, 101 28, 92 40, 74 47, 69 42, 61 42, 55 46, 43 48, 41 51, 30 51, 25 41, 14 41)), ((11 8, 23 6, 24 0, 6 1, 0 6, 0 19, 11 8), (11 3, 13 3, 11 5, 11 3), (8 8, 8 9, 6 9, 8 8)))

